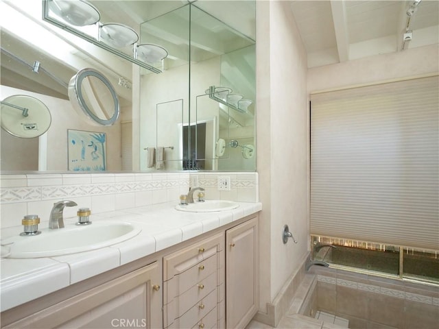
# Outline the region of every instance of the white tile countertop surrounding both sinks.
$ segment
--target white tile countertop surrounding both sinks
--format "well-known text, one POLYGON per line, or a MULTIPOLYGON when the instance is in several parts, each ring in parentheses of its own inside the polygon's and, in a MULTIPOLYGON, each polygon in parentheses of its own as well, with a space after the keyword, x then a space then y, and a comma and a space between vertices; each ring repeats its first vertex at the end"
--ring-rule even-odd
MULTIPOLYGON (((126 221, 141 227, 128 241, 64 256, 1 258, 0 310, 8 310, 214 230, 262 209, 259 202, 237 202, 238 208, 221 212, 182 212, 173 204, 156 204, 91 215, 91 221, 126 221)), ((67 225, 76 218, 64 218, 67 225)), ((93 225, 93 224, 92 224, 93 225)), ((4 229, 2 236, 19 234, 23 228, 4 229)), ((32 239, 32 238, 30 238, 32 239)))

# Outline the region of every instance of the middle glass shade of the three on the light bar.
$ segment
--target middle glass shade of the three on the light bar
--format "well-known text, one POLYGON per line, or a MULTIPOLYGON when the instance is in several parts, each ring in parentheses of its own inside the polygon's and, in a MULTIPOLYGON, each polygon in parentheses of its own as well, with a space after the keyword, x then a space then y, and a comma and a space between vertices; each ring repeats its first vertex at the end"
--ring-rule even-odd
POLYGON ((123 48, 137 42, 139 35, 126 25, 108 23, 99 27, 99 40, 112 47, 123 48))

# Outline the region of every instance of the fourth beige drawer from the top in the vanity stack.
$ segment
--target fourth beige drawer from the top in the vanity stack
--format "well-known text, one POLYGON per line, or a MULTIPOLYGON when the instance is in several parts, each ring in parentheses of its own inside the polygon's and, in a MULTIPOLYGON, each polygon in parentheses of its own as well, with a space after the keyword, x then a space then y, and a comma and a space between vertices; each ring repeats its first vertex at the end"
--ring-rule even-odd
MULTIPOLYGON (((185 314, 179 319, 176 319, 174 323, 177 323, 176 328, 192 328, 197 324, 200 319, 206 317, 211 310, 217 308, 217 290, 211 291, 209 295, 206 295, 202 300, 193 305, 185 314)), ((217 319, 217 312, 215 312, 215 321, 217 319)), ((211 327, 205 327, 211 328, 211 327)))

